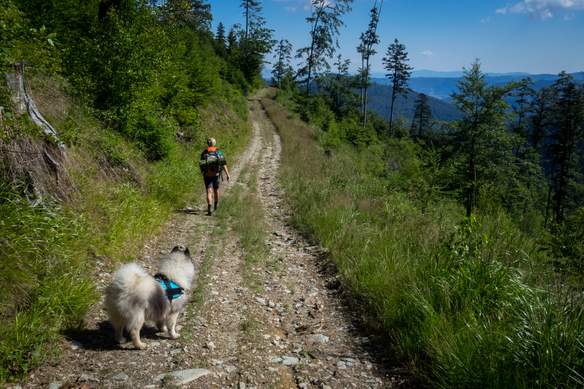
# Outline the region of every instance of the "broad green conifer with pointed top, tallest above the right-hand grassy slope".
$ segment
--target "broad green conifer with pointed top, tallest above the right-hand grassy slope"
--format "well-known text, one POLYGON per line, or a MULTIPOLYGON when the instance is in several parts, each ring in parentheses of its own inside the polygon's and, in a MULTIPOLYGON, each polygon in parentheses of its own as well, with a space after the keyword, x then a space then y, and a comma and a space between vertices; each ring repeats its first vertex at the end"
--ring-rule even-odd
MULTIPOLYGON (((515 116, 505 100, 516 89, 517 82, 505 86, 487 87, 486 74, 481 72, 478 58, 470 69, 463 67, 464 75, 457 81, 458 92, 450 95, 453 104, 461 111, 462 118, 451 123, 451 139, 457 155, 461 181, 465 179, 464 195, 467 217, 477 196, 477 182, 491 176, 500 179, 505 171, 515 165, 512 145, 517 136, 506 131, 506 121, 515 116), (498 165, 505 164, 505 167, 498 165)), ((462 184, 462 182, 461 182, 462 184)), ((462 185, 461 185, 462 186, 462 185)))

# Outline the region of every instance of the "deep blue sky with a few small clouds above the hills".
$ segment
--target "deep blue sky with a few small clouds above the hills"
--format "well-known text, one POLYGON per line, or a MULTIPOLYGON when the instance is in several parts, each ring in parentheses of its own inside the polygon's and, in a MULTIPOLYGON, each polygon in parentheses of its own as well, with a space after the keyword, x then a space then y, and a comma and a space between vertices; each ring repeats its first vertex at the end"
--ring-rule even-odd
MULTIPOLYGON (((210 0, 213 29, 245 23, 237 0, 210 0)), ((286 38, 296 51, 309 43, 310 0, 263 0, 267 27, 274 38, 286 38)), ((338 52, 360 65, 355 47, 369 22, 374 0, 355 0, 345 15, 338 52)), ((381 44, 372 59, 373 71, 383 71, 381 58, 398 38, 406 45, 416 69, 458 71, 475 57, 486 72, 558 73, 584 70, 584 0, 387 1, 378 26, 381 44)), ((268 60, 270 60, 268 58, 268 60)), ((332 64, 333 61, 329 61, 332 64)), ((294 59, 296 68, 298 59, 294 59)), ((267 65, 269 67, 270 65, 267 65)))

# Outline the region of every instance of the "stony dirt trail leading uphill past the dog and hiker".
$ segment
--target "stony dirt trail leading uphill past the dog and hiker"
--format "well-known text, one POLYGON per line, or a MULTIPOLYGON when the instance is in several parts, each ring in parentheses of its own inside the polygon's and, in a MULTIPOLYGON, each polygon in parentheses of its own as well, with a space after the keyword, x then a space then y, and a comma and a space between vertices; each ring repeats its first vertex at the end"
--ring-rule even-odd
MULTIPOLYGON (((239 163, 230 166, 237 185, 245 166, 259 174, 257 196, 272 231, 266 244, 278 270, 245 264, 238 237, 203 206, 189 207, 144 245, 137 262, 154 272, 173 246, 189 247, 201 288, 177 321, 180 338, 159 333, 153 323, 140 332, 145 350, 118 345, 102 300, 88 315, 88 328, 62 345, 60 363, 44 363, 23 388, 237 388, 349 389, 415 387, 384 347, 361 332, 325 254, 287 225, 288 212, 276 185, 281 144, 258 101, 250 101, 254 136, 239 163), (266 135, 268 125, 270 136, 266 135), (263 131, 262 131, 263 130, 263 131), (271 136, 273 135, 273 136, 271 136)), ((241 183, 240 183, 241 184, 241 183)), ((245 185, 245 184, 244 184, 245 185)), ((201 180, 201 194, 203 185, 201 180)), ((221 202, 220 202, 221 206, 221 202)), ((205 207, 206 208, 206 207, 205 207)), ((98 262, 103 292, 112 269, 98 262)), ((192 291, 187 291, 192 293, 192 291)), ((9 386, 10 387, 10 386, 9 386)))

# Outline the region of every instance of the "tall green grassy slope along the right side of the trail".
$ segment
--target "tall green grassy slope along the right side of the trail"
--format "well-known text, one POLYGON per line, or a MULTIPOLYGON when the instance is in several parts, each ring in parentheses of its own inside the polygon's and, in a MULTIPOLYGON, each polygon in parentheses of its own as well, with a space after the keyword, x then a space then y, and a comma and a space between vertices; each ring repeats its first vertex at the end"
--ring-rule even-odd
MULTIPOLYGON (((371 173, 379 157, 349 145, 326 157, 326 135, 274 94, 262 103, 283 142, 293 223, 328 250, 361 321, 419 379, 444 388, 582 387, 581 292, 529 236, 502 212, 463 220, 449 201, 422 215, 393 190, 397 173, 371 173)), ((390 153, 399 159, 407 146, 397 141, 390 153)))

